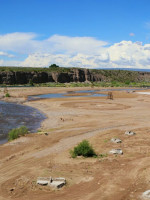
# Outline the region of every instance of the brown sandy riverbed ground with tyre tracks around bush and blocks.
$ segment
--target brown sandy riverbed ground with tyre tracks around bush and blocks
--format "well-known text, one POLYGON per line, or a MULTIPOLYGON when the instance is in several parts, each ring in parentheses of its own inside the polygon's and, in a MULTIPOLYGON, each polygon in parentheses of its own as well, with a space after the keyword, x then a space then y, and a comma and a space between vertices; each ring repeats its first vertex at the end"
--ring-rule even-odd
MULTIPOLYGON (((87 88, 11 88, 9 101, 33 106, 47 115, 41 130, 0 146, 0 200, 140 200, 150 189, 150 97, 113 92, 106 97, 70 97, 27 102, 31 94, 87 88), (135 136, 124 134, 126 130, 135 136), (110 139, 118 137, 121 144, 110 139), (70 157, 88 139, 98 158, 70 157), (123 155, 110 155, 121 148, 123 155), (37 177, 65 177, 59 190, 37 186, 37 177)), ((149 91, 146 91, 149 92, 149 91)), ((0 96, 3 96, 1 90, 0 96)))

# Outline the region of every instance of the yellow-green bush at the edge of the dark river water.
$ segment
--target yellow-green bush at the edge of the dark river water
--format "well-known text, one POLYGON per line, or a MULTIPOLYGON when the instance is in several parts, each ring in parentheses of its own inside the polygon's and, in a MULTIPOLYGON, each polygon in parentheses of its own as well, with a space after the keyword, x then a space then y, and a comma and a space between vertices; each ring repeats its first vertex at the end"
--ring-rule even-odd
POLYGON ((28 128, 25 126, 21 126, 20 128, 15 128, 9 131, 8 133, 8 140, 14 140, 20 136, 24 136, 28 133, 28 128))

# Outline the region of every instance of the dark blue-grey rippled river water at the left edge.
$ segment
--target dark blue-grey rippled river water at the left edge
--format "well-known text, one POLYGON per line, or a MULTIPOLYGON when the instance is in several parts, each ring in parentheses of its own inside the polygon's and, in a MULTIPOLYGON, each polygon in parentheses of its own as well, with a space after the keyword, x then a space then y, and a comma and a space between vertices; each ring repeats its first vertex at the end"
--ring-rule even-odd
POLYGON ((45 115, 29 106, 0 101, 0 144, 7 142, 7 134, 13 128, 28 127, 36 131, 45 115))

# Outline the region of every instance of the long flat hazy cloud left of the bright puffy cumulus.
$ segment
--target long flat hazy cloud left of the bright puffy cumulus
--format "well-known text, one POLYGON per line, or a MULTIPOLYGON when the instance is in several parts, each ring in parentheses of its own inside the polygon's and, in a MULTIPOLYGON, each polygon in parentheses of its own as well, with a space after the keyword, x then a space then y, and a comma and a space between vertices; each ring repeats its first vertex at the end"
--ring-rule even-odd
POLYGON ((10 33, 0 35, 0 50, 17 53, 93 53, 107 42, 92 37, 68 37, 53 35, 46 40, 37 40, 34 33, 10 33))

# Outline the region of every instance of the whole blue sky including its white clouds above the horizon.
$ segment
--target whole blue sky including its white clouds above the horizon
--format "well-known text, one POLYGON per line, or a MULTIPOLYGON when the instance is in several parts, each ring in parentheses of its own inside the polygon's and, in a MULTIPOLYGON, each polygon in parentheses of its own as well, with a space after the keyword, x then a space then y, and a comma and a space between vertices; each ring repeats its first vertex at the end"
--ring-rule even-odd
POLYGON ((0 0, 0 66, 150 69, 150 0, 0 0))

